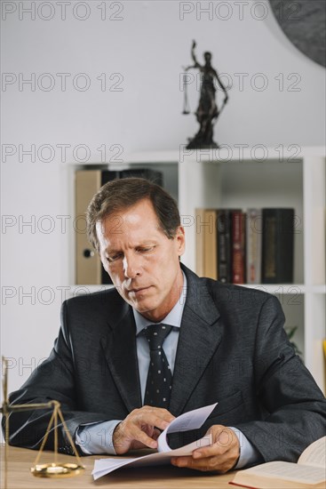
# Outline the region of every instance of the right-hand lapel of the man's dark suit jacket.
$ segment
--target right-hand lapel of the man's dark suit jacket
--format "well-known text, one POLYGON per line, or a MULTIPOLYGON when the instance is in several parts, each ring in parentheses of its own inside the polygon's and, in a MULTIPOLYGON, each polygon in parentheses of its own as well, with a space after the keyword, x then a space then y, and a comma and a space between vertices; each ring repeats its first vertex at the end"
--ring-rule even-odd
POLYGON ((173 372, 170 411, 183 412, 188 398, 219 347, 222 327, 219 311, 206 285, 190 270, 187 275, 187 300, 181 321, 173 372))

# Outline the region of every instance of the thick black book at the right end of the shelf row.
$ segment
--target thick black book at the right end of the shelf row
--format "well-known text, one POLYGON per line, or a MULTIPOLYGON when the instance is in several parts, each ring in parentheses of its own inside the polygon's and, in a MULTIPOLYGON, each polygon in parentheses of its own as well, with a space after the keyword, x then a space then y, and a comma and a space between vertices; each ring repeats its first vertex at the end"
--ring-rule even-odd
POLYGON ((262 283, 293 283, 294 209, 263 209, 262 283))

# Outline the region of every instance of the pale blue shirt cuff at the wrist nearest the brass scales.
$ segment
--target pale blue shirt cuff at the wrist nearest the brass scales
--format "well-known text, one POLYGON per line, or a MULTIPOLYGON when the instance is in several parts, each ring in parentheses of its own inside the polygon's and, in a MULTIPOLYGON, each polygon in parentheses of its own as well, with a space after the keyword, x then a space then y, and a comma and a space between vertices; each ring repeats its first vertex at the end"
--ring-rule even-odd
POLYGON ((76 430, 76 445, 85 455, 116 455, 112 438, 120 422, 112 420, 80 425, 76 430))

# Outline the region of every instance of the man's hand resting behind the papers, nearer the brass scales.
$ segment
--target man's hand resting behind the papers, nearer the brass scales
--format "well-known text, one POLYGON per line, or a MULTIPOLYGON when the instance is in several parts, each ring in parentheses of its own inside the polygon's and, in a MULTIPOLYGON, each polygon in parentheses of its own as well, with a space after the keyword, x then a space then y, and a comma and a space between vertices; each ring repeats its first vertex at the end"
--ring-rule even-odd
POLYGON ((156 439, 160 429, 165 429, 174 420, 169 411, 160 407, 144 405, 131 411, 117 425, 113 434, 113 445, 117 455, 139 448, 157 448, 156 439))

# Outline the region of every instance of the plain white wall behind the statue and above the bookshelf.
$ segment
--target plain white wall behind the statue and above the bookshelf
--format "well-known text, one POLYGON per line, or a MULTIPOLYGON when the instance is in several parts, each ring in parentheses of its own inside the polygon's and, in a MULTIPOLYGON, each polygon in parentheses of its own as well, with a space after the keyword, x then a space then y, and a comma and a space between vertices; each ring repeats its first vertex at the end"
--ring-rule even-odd
MULTIPOLYGON (((71 219, 64 229, 57 216, 67 216, 71 209, 67 176, 68 163, 76 161, 73 149, 83 144, 89 148, 90 161, 99 162, 101 145, 107 147, 108 161, 115 155, 115 148, 109 148, 116 144, 126 154, 177 149, 187 142, 197 125, 194 115, 181 115, 179 76, 181 67, 191 63, 193 38, 198 59, 211 51, 213 66, 233 80, 229 104, 215 129, 220 144, 322 145, 325 131, 325 70, 290 44, 266 1, 249 0, 243 5, 233 1, 71 1, 66 20, 61 20, 60 2, 34 3, 35 20, 30 13, 19 12, 20 4, 28 8, 33 3, 2 3, 1 333, 3 354, 12 358, 11 390, 47 356, 59 326, 60 287, 72 285, 71 219), (107 19, 101 20, 98 7, 104 4, 107 19), (200 10, 210 4, 214 8, 211 20, 200 10), (85 5, 89 18, 78 20, 76 16, 86 12, 85 5), (123 11, 115 14, 121 5, 123 11), (182 9, 193 12, 185 12, 181 20, 182 9), (53 19, 42 19, 52 13, 53 19), (266 19, 258 20, 264 13, 266 19), (219 19, 227 15, 228 20, 219 19), (37 85, 37 80, 41 87, 49 82, 45 73, 55 81, 48 92, 37 85), (71 74, 65 92, 58 73, 71 74), (87 91, 76 90, 72 83, 81 73, 91 81, 87 91), (97 79, 103 73, 106 91, 101 91, 97 79), (248 74, 243 75, 243 90, 236 73, 248 74), (35 91, 18 81, 4 84, 11 76, 14 81, 14 76, 27 79, 31 74, 36 74, 35 91), (112 74, 120 75, 109 80, 112 74), (253 84, 261 83, 258 74, 268 82, 264 91, 253 84), (114 92, 112 85, 118 79, 123 79, 119 85, 123 90, 114 92), (292 91, 296 80, 292 90, 297 91, 292 91), (26 150, 32 144, 36 145, 35 163, 19 154, 19 148, 26 150), (66 162, 58 147, 62 144, 70 145, 66 162), (45 148, 39 153, 40 161, 37 149, 43 145, 51 145, 53 155, 45 148), (8 156, 11 149, 17 152, 8 156), (42 161, 50 156, 51 163, 42 161), (21 228, 22 220, 32 220, 32 226, 21 228), (50 225, 54 228, 47 233, 50 225), (32 297, 24 296, 28 291, 32 297)), ((81 87, 82 77, 76 82, 81 87)), ((195 82, 189 84, 188 92, 194 111, 199 95, 195 82)), ((77 156, 83 157, 83 152, 77 156)))

